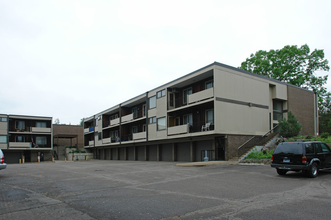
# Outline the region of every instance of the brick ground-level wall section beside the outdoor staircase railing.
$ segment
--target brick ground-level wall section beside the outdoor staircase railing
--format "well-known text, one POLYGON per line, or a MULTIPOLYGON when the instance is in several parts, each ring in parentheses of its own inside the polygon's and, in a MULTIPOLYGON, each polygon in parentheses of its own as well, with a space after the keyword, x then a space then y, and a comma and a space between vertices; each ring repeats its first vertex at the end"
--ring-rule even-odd
POLYGON ((225 160, 238 158, 238 147, 250 140, 251 135, 228 135, 225 139, 225 160))

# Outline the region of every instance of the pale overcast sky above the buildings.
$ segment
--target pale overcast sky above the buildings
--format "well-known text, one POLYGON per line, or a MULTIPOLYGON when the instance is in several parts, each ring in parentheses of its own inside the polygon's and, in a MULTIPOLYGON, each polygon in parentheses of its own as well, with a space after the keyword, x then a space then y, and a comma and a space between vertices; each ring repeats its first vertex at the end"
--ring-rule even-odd
POLYGON ((78 124, 258 50, 308 44, 331 61, 330 10, 318 0, 0 0, 0 113, 78 124))

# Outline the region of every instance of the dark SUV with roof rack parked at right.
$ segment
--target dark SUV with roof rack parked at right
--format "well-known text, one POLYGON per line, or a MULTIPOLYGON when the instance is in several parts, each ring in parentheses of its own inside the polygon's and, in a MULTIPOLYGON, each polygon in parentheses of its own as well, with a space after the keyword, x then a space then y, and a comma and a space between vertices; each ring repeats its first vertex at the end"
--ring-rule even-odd
POLYGON ((331 150, 316 140, 295 140, 277 145, 271 156, 271 167, 279 175, 288 171, 302 171, 314 178, 319 170, 331 169, 331 150))

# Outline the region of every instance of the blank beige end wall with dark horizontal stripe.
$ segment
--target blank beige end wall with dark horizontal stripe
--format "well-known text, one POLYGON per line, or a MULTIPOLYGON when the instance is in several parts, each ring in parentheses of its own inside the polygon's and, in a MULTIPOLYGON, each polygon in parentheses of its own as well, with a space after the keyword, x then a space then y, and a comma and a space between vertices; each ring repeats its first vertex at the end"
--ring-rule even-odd
POLYGON ((214 84, 216 133, 263 135, 269 131, 268 82, 217 67, 214 84), (228 102, 217 101, 217 98, 228 102))

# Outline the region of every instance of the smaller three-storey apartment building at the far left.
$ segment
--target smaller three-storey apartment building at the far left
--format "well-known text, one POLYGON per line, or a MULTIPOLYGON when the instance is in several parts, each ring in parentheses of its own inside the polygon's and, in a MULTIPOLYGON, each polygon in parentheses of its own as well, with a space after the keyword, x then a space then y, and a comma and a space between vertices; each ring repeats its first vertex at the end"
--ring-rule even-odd
POLYGON ((8 164, 51 160, 52 117, 0 114, 0 148, 8 164))

